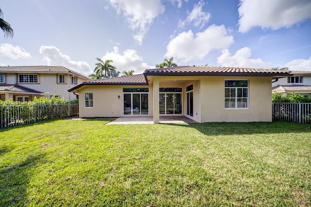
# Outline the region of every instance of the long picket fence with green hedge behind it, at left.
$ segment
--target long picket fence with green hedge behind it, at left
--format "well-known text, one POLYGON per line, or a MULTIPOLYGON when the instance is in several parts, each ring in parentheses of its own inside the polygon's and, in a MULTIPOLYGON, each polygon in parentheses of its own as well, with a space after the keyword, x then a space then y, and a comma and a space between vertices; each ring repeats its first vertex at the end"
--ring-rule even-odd
POLYGON ((78 111, 78 104, 5 105, 0 106, 0 126, 73 117, 77 116, 78 111))

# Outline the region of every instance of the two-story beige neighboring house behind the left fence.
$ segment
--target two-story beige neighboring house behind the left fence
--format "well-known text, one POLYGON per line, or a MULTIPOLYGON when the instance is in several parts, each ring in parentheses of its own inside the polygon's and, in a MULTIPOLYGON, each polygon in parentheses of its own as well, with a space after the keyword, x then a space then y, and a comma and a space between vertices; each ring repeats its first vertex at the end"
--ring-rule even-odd
POLYGON ((77 99, 68 88, 90 80, 61 66, 0 67, 0 100, 31 101, 48 92, 66 101, 77 99))

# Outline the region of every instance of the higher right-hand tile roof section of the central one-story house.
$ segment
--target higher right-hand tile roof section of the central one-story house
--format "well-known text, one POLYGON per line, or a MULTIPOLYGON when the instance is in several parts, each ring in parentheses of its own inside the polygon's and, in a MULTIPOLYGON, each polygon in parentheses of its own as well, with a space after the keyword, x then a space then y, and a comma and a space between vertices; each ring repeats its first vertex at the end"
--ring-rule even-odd
POLYGON ((249 69, 232 67, 211 67, 211 66, 179 66, 161 69, 146 69, 145 75, 178 74, 178 75, 282 75, 289 74, 289 70, 272 69, 249 69))

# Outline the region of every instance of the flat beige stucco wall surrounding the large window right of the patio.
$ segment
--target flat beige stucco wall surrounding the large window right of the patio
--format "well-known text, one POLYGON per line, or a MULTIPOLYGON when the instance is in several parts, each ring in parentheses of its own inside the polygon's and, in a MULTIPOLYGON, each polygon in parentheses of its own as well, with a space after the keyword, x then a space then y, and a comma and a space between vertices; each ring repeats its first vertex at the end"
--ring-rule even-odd
POLYGON ((201 80, 202 122, 272 121, 271 77, 204 77, 201 80), (248 108, 225 108, 225 80, 249 80, 248 108))

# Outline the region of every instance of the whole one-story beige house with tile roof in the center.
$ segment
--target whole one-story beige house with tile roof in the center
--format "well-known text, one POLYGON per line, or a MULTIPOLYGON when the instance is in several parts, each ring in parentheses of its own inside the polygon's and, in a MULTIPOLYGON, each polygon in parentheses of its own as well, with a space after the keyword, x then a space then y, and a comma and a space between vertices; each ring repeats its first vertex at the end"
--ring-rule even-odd
POLYGON ((272 121, 272 79, 290 71, 181 66, 90 80, 78 92, 79 116, 186 116, 197 122, 272 121))

